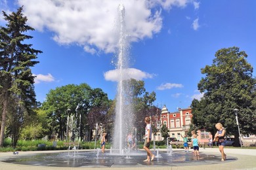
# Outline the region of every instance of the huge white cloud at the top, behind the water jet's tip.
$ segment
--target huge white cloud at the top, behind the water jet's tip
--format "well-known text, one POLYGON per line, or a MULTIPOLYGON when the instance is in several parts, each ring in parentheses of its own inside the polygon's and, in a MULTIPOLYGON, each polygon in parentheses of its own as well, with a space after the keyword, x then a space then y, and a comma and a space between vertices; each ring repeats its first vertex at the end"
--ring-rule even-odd
POLYGON ((189 0, 17 0, 24 5, 28 24, 39 31, 52 31, 59 44, 79 44, 95 54, 117 47, 117 7, 123 3, 130 41, 151 38, 162 27, 161 8, 186 7, 189 0), (154 8, 154 10, 152 10, 154 8))

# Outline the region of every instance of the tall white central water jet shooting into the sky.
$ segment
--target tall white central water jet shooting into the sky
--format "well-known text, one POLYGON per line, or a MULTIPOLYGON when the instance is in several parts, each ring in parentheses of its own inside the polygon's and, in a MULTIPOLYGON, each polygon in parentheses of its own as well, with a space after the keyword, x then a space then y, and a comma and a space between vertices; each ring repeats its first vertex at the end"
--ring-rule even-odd
POLYGON ((116 95, 116 120, 114 127, 114 148, 123 150, 125 146, 125 136, 127 131, 133 127, 133 109, 131 101, 127 94, 129 93, 129 84, 127 84, 127 70, 129 42, 127 41, 127 34, 125 30, 125 7, 119 5, 118 7, 118 21, 117 27, 119 31, 118 54, 117 54, 117 70, 119 71, 119 80, 117 84, 116 95))

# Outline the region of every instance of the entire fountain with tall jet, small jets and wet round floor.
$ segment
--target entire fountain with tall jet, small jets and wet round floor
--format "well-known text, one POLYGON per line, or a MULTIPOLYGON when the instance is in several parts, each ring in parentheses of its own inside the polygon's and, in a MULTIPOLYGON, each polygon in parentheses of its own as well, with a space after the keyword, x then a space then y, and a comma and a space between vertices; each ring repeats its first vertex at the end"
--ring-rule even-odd
MULTIPOLYGON (((175 152, 171 145, 169 146, 167 141, 167 154, 161 152, 157 149, 157 154, 152 162, 144 162, 146 158, 146 152, 132 151, 130 148, 125 148, 125 136, 127 132, 131 129, 128 127, 133 127, 133 108, 130 105, 130 101, 127 98, 127 90, 129 90, 127 82, 125 82, 126 70, 128 69, 127 62, 127 47, 129 43, 127 42, 127 35, 125 32, 125 8, 123 5, 118 7, 119 14, 119 51, 117 59, 117 70, 119 71, 119 82, 117 86, 117 104, 116 104, 116 122, 114 127, 114 143, 110 148, 110 153, 106 152, 104 154, 100 153, 100 148, 96 148, 95 151, 78 151, 79 145, 76 148, 74 146, 74 155, 70 154, 70 146, 68 151, 64 152, 53 152, 53 153, 40 153, 40 154, 28 154, 25 156, 17 156, 17 154, 12 154, 12 157, 0 158, 0 161, 6 163, 18 163, 24 165, 36 165, 36 166, 49 166, 49 167, 148 167, 148 165, 156 167, 172 167, 172 166, 191 166, 191 165, 203 165, 203 164, 215 164, 219 163, 219 158, 216 158, 214 155, 204 155, 200 154, 198 160, 194 159, 192 154, 186 154, 184 152, 175 152), (126 156, 124 156, 124 150, 126 151, 126 156), (77 151, 77 152, 75 152, 77 151), (117 153, 114 151, 118 151, 117 153), (68 153, 67 153, 68 152, 68 153), (121 155, 121 156, 120 156, 121 155), (172 156, 171 159, 169 156, 172 156), (200 163, 198 163, 200 162, 200 163)), ((77 107, 78 109, 79 107, 77 107)), ((76 112, 77 112, 76 109, 76 112)), ((78 117, 77 114, 71 115, 70 120, 68 118, 67 127, 70 127, 70 139, 74 139, 75 128, 77 128, 76 119, 79 119, 81 122, 81 115, 78 117)), ((98 126, 98 125, 97 125, 98 126)), ((78 129, 80 130, 80 129, 78 129)), ((68 132, 68 128, 67 128, 68 132)), ((135 143, 137 129, 135 128, 135 143)), ((68 133, 67 133, 68 137, 68 133)), ((168 140, 168 139, 167 139, 168 140)), ((71 141, 71 140, 70 140, 71 141)), ((69 141, 69 142, 70 142, 69 141)), ((136 146, 137 148, 137 146, 136 146)), ((156 145, 154 144, 154 150, 156 145)), ((232 159, 236 160, 236 159, 232 159)), ((230 160, 230 161, 232 161, 230 160)))

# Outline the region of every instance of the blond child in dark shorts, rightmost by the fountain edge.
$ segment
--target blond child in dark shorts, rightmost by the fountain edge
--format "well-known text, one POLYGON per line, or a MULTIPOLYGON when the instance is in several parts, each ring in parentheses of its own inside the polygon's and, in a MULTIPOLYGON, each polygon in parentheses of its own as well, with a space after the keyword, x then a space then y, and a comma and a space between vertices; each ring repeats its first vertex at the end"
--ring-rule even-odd
POLYGON ((214 136, 213 142, 217 142, 217 145, 219 146, 219 151, 221 152, 221 161, 224 161, 226 160, 226 154, 224 153, 224 146, 226 144, 224 140, 224 135, 226 131, 221 123, 215 124, 215 127, 218 131, 214 136))

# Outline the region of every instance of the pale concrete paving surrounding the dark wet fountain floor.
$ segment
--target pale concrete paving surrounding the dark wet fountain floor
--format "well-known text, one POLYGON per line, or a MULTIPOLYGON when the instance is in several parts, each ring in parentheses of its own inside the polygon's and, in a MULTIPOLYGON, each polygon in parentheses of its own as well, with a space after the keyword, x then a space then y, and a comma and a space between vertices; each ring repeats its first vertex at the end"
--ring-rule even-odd
MULTIPOLYGON (((173 151, 181 150, 181 149, 173 149, 173 151)), ((190 150, 192 151, 192 150, 190 150)), ((35 152, 19 152, 20 156, 25 156, 29 154, 35 154, 35 153, 47 153, 47 152, 60 152, 60 151, 35 151, 35 152)), ((61 151, 65 152, 65 151, 61 151)), ((227 155, 228 158, 236 158, 233 159, 234 161, 221 161, 221 153, 219 152, 219 148, 200 148, 201 154, 211 154, 215 155, 217 158, 219 158, 219 161, 217 161, 215 164, 207 164, 205 163, 203 165, 197 164, 197 165, 171 165, 171 166, 154 166, 149 165, 148 167, 132 167, 133 170, 137 169, 154 169, 154 170, 164 170, 164 169, 190 169, 190 170, 200 170, 200 169, 255 169, 256 170, 256 150, 253 149, 241 149, 241 148, 224 148, 224 152, 227 155)), ((1 160, 4 160, 5 158, 9 158, 13 156, 12 152, 1 152, 0 153, 0 169, 2 170, 9 170, 9 169, 16 169, 16 170, 27 170, 27 169, 39 169, 39 170, 45 170, 45 169, 56 169, 56 170, 66 170, 66 169, 87 169, 87 170, 96 170, 96 169, 105 169, 106 167, 46 167, 46 166, 35 166, 35 165, 19 165, 14 163, 5 163, 1 160)), ((131 169, 131 167, 107 167, 106 169, 131 169)))

